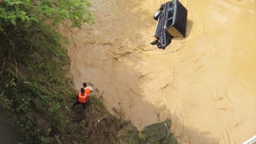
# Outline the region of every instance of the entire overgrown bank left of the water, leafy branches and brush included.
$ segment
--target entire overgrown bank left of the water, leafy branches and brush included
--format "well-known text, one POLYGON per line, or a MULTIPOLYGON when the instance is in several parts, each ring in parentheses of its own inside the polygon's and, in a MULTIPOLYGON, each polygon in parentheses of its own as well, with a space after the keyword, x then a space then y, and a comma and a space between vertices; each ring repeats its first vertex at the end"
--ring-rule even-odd
POLYGON ((91 96, 76 106, 68 40, 59 24, 93 23, 89 0, 2 0, 0 3, 0 108, 21 144, 116 143, 122 121, 91 96))

